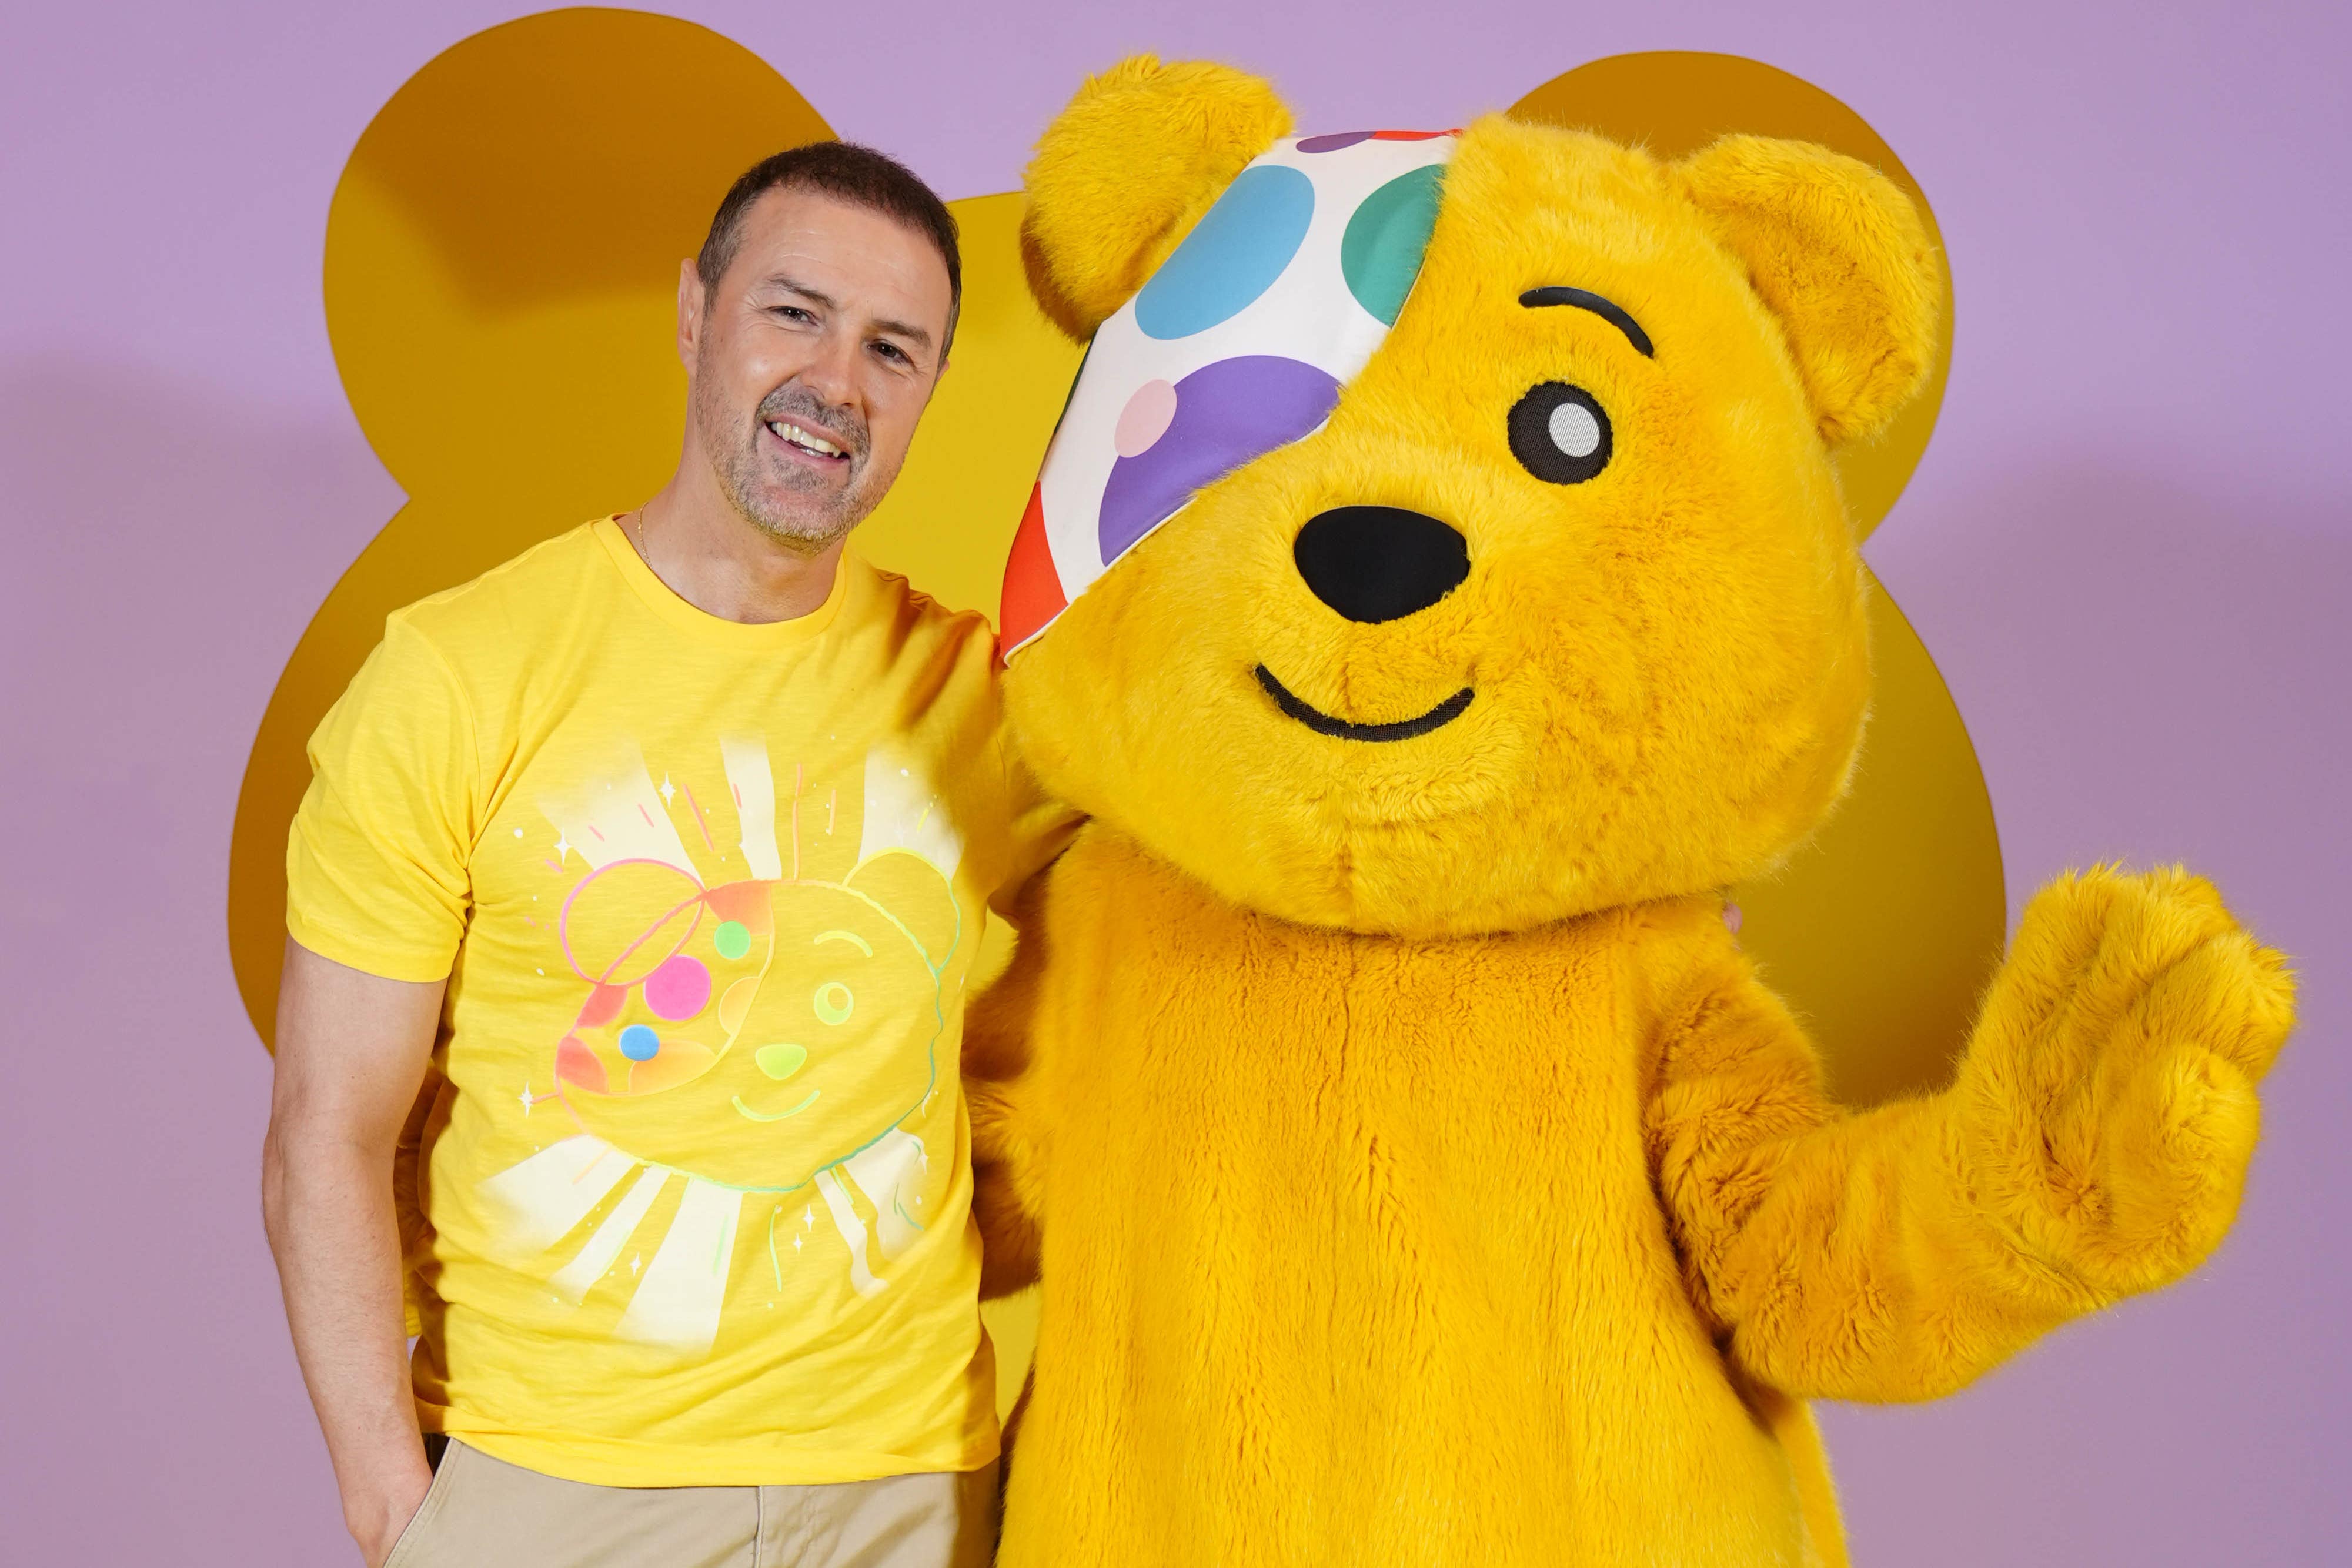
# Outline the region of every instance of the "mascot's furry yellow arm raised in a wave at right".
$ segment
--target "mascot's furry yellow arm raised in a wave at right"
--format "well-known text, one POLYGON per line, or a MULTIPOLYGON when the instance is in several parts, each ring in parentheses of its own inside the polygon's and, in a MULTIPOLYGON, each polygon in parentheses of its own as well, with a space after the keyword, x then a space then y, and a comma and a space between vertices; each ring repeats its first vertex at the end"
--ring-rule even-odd
POLYGON ((2211 884, 2091 870, 2027 907, 1947 1091, 1842 1114, 1719 929, 1668 947, 1658 1190, 1731 1356, 1799 1396, 1945 1394, 2201 1262, 2293 1020, 2211 884))

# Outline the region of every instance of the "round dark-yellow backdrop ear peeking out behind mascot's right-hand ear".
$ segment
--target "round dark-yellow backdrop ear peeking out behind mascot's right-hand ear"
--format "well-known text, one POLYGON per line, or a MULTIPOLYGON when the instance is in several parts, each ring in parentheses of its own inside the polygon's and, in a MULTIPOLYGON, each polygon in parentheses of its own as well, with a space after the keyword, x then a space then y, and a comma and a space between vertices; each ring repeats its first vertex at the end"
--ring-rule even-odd
POLYGON ((1858 158, 1903 186, 1919 207, 1936 263, 1943 268, 1943 322, 1936 327, 1936 367, 1919 395, 1896 414, 1875 442, 1853 442, 1832 454, 1856 538, 1870 538, 1896 496, 1910 482, 1936 430, 1943 383, 1952 367, 1952 263, 1943 254, 1943 230, 1919 181, 1910 176, 1870 125, 1820 87, 1738 54, 1656 49, 1611 54, 1526 94, 1510 106, 1515 120, 1566 125, 1616 141, 1646 146, 1658 158, 1696 153, 1717 136, 1790 136, 1818 141, 1832 153, 1858 158))

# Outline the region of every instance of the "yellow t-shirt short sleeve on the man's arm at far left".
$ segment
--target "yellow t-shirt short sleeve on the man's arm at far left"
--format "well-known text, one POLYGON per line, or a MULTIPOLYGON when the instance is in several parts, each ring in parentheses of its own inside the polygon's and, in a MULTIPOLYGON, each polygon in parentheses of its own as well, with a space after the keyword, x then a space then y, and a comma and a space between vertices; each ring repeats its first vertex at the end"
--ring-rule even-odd
POLYGON ((395 616, 310 736, 310 790, 287 837, 287 933, 386 980, 447 978, 470 905, 477 778, 463 686, 395 616))

